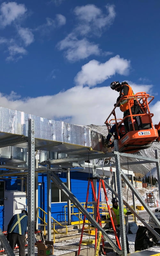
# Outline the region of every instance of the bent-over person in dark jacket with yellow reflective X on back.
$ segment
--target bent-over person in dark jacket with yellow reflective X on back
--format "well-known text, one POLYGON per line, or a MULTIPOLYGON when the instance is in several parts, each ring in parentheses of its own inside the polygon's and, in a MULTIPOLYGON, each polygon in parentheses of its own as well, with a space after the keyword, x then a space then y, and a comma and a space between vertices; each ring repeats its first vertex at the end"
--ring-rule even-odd
POLYGON ((25 256, 27 224, 28 212, 25 210, 15 214, 8 224, 7 239, 12 250, 16 244, 19 246, 19 256, 25 256))

